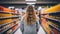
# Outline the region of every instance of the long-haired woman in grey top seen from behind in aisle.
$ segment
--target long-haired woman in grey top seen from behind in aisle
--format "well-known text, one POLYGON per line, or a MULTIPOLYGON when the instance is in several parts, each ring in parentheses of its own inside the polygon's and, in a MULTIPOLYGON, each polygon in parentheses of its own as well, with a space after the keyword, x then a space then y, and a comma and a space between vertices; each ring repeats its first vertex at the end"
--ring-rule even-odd
POLYGON ((36 13, 32 5, 29 5, 26 14, 20 24, 22 34, 37 34, 39 26, 36 13))

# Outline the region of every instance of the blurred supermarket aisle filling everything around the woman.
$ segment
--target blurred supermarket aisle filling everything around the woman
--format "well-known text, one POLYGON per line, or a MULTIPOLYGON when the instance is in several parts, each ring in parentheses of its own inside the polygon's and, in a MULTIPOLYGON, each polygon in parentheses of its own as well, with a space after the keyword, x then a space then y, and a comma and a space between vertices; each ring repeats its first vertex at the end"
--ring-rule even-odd
POLYGON ((38 34, 60 34, 60 0, 0 0, 0 34, 22 34, 20 21, 29 4, 41 21, 38 34))

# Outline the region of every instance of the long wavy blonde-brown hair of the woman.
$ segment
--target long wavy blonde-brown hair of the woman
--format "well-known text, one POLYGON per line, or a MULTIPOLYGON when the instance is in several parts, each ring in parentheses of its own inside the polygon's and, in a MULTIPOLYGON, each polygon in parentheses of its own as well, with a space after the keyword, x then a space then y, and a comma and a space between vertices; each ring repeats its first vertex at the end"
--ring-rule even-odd
POLYGON ((28 25, 32 25, 36 22, 36 13, 34 11, 34 7, 29 5, 26 9, 26 15, 24 16, 24 20, 28 25))

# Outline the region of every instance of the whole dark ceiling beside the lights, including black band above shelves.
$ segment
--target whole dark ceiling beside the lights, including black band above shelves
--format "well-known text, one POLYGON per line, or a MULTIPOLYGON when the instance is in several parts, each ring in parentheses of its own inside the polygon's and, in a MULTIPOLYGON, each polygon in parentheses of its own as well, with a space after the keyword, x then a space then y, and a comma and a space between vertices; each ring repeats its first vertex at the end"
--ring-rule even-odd
MULTIPOLYGON (((35 2, 35 1, 34 1, 35 2)), ((53 6, 60 3, 60 0, 36 0, 35 6, 53 6)), ((17 8, 24 8, 27 6, 25 0, 0 0, 0 5, 8 7, 15 6, 17 8)))

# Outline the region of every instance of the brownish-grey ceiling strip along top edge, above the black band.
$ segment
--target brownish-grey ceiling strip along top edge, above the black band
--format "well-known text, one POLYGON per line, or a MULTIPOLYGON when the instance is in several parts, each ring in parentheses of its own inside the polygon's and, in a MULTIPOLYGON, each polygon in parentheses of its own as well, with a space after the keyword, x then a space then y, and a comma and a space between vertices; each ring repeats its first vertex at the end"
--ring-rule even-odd
MULTIPOLYGON (((36 4, 60 3, 60 0, 36 0, 36 4)), ((25 0, 0 0, 0 4, 26 4, 25 0)))

